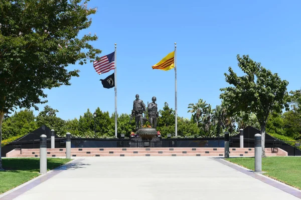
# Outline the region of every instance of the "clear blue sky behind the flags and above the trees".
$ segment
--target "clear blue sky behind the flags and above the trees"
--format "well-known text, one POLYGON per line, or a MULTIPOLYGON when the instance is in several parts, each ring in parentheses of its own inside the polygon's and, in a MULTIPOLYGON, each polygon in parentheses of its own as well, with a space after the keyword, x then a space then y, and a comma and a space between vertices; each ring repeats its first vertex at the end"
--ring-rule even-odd
MULTIPOLYGON (((178 115, 190 118, 189 103, 202 98, 220 104, 220 88, 227 86, 228 67, 241 75, 236 55, 250 57, 286 79, 288 90, 299 89, 300 18, 298 0, 91 0, 97 7, 92 25, 93 45, 101 55, 117 43, 117 111, 130 113, 135 94, 145 104, 157 97, 175 108, 175 71, 152 69, 174 50, 177 42, 178 115)), ((114 88, 102 87, 92 63, 71 65, 80 77, 72 85, 46 90, 48 105, 63 119, 79 118, 90 108, 114 111, 114 88)), ((40 110, 45 104, 39 105, 40 110)), ((38 111, 35 111, 37 114, 38 111)))

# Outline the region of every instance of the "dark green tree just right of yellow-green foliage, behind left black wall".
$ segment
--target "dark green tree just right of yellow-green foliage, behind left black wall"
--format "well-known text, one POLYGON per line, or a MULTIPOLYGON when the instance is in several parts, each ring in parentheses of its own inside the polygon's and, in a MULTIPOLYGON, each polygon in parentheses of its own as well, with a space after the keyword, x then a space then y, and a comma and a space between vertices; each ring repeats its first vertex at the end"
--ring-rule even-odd
POLYGON ((59 110, 53 109, 49 105, 46 105, 44 110, 42 110, 36 117, 36 122, 38 127, 46 125, 50 129, 54 129, 57 135, 64 136, 66 135, 66 132, 64 132, 65 121, 56 116, 56 112, 58 111, 59 110))

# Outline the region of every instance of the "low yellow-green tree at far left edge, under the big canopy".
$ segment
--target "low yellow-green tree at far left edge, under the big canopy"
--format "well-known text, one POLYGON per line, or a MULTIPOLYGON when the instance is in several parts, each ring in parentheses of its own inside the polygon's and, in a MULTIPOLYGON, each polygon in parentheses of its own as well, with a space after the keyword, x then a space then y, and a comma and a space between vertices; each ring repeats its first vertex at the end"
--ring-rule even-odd
POLYGON ((33 110, 25 109, 15 112, 12 116, 6 117, 3 121, 3 138, 22 136, 37 128, 33 110))

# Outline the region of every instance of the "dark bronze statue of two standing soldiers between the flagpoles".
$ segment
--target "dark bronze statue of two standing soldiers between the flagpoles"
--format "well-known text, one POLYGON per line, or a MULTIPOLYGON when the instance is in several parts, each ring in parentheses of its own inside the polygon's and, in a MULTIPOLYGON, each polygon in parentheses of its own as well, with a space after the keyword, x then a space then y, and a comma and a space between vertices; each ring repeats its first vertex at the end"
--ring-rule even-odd
MULTIPOLYGON (((148 121, 150 122, 150 126, 153 128, 157 128, 157 119, 159 117, 156 100, 156 96, 153 96, 152 102, 150 102, 147 107, 148 121)), ((146 119, 145 104, 141 99, 139 99, 139 94, 136 94, 136 99, 133 102, 133 109, 131 113, 131 118, 135 117, 136 129, 143 126, 143 113, 144 118, 146 119)))

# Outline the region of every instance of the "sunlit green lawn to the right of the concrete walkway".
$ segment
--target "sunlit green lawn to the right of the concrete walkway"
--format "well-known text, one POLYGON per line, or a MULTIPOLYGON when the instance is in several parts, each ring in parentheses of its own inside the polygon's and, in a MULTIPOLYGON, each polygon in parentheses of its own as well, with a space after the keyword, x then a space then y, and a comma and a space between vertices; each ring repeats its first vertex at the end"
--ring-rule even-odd
MULTIPOLYGON (((254 170, 254 157, 233 157, 226 160, 254 170)), ((262 171, 266 171, 264 175, 301 188, 301 157, 263 157, 262 171)))

